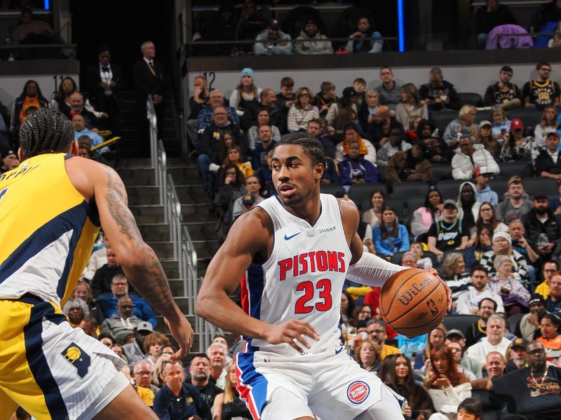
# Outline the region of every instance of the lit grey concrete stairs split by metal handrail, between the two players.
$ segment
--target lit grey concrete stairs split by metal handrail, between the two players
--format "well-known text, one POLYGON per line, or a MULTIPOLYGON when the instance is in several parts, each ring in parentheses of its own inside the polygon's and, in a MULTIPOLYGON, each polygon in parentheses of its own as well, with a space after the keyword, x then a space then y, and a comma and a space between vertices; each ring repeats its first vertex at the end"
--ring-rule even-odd
MULTIPOLYGON (((183 294, 183 281, 179 278, 179 265, 173 258, 169 225, 164 223, 163 205, 159 204, 158 188, 154 185, 154 169, 149 159, 128 158, 119 162, 119 172, 125 183, 130 210, 136 218, 144 241, 160 258, 175 301, 187 314, 187 299, 183 294)), ((210 200, 203 192, 196 165, 179 158, 168 158, 168 174, 173 176, 177 195, 182 202, 183 224, 187 225, 197 252, 198 275, 203 276, 210 258, 218 248, 214 232, 215 217, 209 214, 210 200)), ((194 323, 194 317, 189 316, 194 323)), ((156 330, 168 333, 163 320, 158 316, 156 330)), ((197 337, 196 337, 197 339, 197 337)), ((195 342, 196 348, 198 343, 195 342)))

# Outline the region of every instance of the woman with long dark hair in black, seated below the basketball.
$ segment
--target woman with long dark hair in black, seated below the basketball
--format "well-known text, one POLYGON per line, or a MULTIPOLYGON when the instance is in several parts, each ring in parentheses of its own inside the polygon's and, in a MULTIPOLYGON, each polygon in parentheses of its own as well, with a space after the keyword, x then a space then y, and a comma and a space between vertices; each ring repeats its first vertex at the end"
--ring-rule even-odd
POLYGON ((433 414, 433 401, 422 386, 415 383, 411 360, 405 354, 392 354, 384 359, 378 376, 386 386, 407 400, 403 414, 412 419, 428 419, 433 414))

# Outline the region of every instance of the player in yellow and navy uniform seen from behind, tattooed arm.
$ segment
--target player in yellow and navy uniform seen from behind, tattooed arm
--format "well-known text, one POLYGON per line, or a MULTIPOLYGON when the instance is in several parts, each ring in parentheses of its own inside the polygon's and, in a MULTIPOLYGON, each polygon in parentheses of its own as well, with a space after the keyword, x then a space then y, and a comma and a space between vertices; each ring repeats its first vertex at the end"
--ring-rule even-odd
POLYGON ((60 307, 102 226, 136 290, 165 316, 180 351, 193 330, 142 241, 113 169, 75 156, 69 121, 39 109, 20 129, 20 167, 0 175, 0 420, 156 419, 119 372, 123 360, 72 328, 60 307))

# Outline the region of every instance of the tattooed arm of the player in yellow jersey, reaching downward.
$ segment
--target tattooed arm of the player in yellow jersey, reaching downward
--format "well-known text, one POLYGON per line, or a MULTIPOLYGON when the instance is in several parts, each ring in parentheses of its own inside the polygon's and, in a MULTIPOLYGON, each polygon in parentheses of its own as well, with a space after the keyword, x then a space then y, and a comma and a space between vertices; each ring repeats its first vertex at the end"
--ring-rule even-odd
MULTIPOLYGON (((88 162, 89 163, 89 162, 88 162)), ((140 235, 135 218, 127 207, 123 181, 104 165, 88 165, 86 172, 93 180, 93 195, 104 234, 107 236, 127 279, 144 299, 165 318, 170 332, 180 345, 175 357, 187 356, 193 344, 193 329, 173 300, 163 267, 140 235)))

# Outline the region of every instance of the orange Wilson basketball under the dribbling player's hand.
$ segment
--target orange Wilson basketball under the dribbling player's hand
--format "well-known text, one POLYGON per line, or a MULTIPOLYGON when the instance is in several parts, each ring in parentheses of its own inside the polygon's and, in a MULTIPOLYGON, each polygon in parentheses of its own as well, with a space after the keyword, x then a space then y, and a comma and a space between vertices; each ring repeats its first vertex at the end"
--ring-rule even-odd
POLYGON ((393 274, 380 293, 381 318, 406 337, 430 332, 446 316, 447 295, 442 281, 420 268, 393 274))

